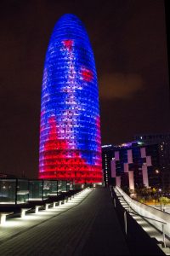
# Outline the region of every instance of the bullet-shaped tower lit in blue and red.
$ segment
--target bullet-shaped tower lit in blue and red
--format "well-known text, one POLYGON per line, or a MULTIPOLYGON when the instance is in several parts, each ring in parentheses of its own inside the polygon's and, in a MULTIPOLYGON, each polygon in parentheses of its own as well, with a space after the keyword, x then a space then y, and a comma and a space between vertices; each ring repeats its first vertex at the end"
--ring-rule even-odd
POLYGON ((102 182, 94 54, 75 15, 61 16, 48 44, 42 79, 39 178, 102 182))

